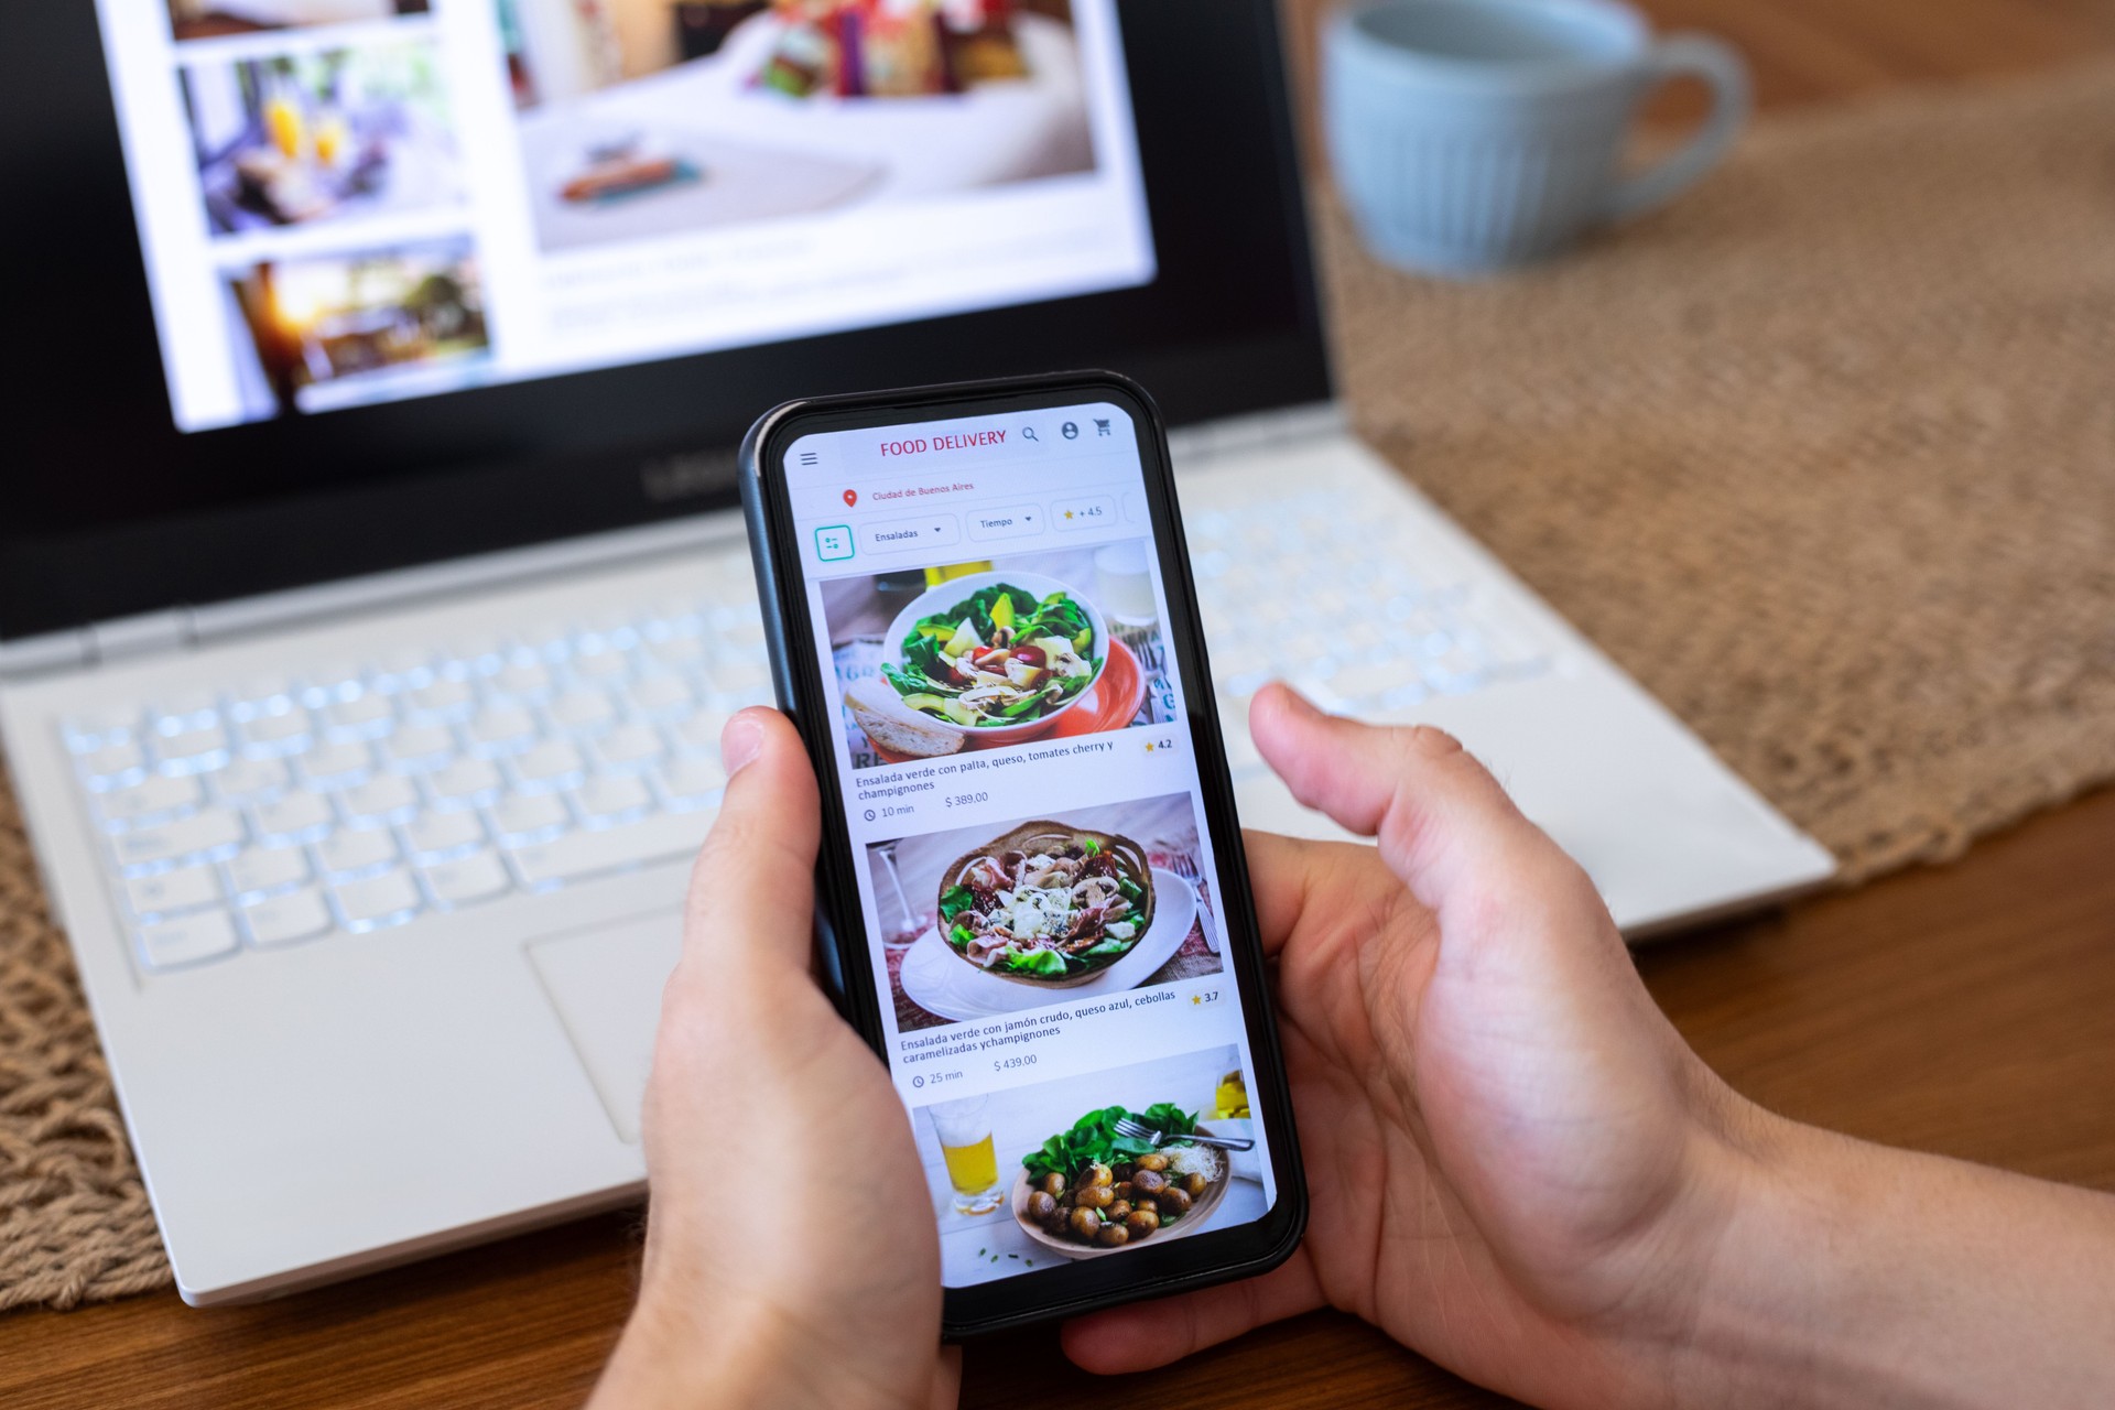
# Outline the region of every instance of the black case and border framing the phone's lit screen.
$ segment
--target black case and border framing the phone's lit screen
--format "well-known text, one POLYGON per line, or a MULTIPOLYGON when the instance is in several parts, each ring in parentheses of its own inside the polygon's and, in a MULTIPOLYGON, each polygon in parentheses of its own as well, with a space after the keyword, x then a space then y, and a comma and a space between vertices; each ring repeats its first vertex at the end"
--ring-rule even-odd
MULTIPOLYGON (((1161 476, 1165 499, 1172 509, 1165 531, 1172 539, 1172 554, 1163 558, 1174 560, 1182 573, 1182 592, 1170 594, 1170 607, 1176 607, 1176 596, 1180 596, 1180 619, 1170 624, 1174 628, 1174 641, 1178 655, 1187 657, 1187 664, 1195 668, 1195 681, 1210 681, 1210 668, 1206 662, 1203 647, 1203 624, 1197 617, 1197 590, 1189 573, 1189 543, 1182 539, 1182 518, 1176 509, 1174 495, 1174 471, 1172 459, 1167 454, 1167 431, 1161 421, 1159 406, 1144 387, 1123 376, 1121 372, 1051 372, 1038 376, 1015 376, 1015 378, 992 378, 979 383, 945 383, 933 387, 909 387, 897 391, 871 391, 852 395, 829 395, 829 397, 804 397, 795 402, 785 402, 764 412, 757 423, 742 438, 740 450, 740 490, 742 490, 742 518, 749 526, 749 552, 757 573, 757 602, 764 611, 764 636, 772 657, 772 683, 778 698, 778 708, 787 712, 793 727, 799 731, 802 742, 808 748, 810 761, 816 761, 819 774, 823 774, 825 759, 833 759, 833 731, 838 729, 838 706, 829 695, 827 685, 821 681, 821 670, 810 660, 804 643, 793 643, 789 632, 789 592, 802 590, 797 579, 793 583, 783 579, 780 564, 780 543, 774 533, 772 516, 778 509, 770 501, 766 488, 766 448, 772 444, 776 433, 791 421, 814 414, 833 412, 876 412, 876 410, 903 410, 905 419, 916 416, 920 408, 941 406, 941 404, 964 404, 977 400, 1007 400, 1019 395, 1043 395, 1043 393, 1077 393, 1079 402, 1093 400, 1100 391, 1119 391, 1123 400, 1136 402, 1144 410, 1144 421, 1151 425, 1153 442, 1159 454, 1159 465, 1146 465, 1148 476, 1161 476), (812 679, 810 679, 812 676, 812 679)), ((964 408, 967 414, 975 410, 964 408)), ((797 575, 797 567, 791 567, 797 575)), ((1060 1294, 1049 1298, 1045 1304, 1011 1309, 1003 1313, 975 1313, 969 1304, 977 1300, 977 1294, 988 1290, 1007 1287, 1007 1283, 983 1283, 973 1290, 948 1290, 945 1313, 941 1332, 948 1340, 962 1340, 969 1336, 981 1336, 986 1332, 998 1332, 1005 1328, 1026 1325, 1034 1321, 1045 1321, 1053 1317, 1079 1315, 1085 1311, 1098 1311, 1104 1306, 1115 1306, 1121 1302, 1136 1302, 1140 1298, 1157 1298, 1176 1292, 1189 1292, 1195 1287, 1208 1287, 1214 1283, 1227 1283, 1244 1277, 1256 1277, 1269 1273, 1299 1247, 1301 1237, 1307 1232, 1307 1180, 1301 1169, 1299 1156, 1299 1133, 1292 1125, 1292 1097, 1286 1089, 1286 1063, 1284 1051, 1277 1040, 1277 1019, 1269 1002, 1269 987, 1265 983, 1265 964, 1261 939, 1256 934, 1254 898, 1248 888, 1248 858, 1239 848, 1239 818, 1233 808, 1233 780, 1227 772, 1227 746, 1218 729, 1218 712, 1212 708, 1193 710, 1191 738, 1197 742, 1197 765, 1206 782, 1206 808, 1214 803, 1225 812, 1225 818, 1210 818, 1214 833, 1220 833, 1218 822, 1222 820, 1225 837, 1233 843, 1220 850, 1220 867, 1227 873, 1220 905, 1225 911, 1225 922, 1229 936, 1233 941, 1231 949, 1239 951, 1233 962, 1242 966, 1239 991, 1244 998, 1254 996, 1248 1021, 1248 1044, 1250 1059, 1256 1068, 1256 1078, 1267 1089, 1269 1108, 1275 1110, 1275 1120, 1265 1120, 1267 1139, 1271 1142, 1273 1173, 1277 1177, 1277 1203, 1258 1224, 1284 1224, 1282 1237, 1277 1237, 1263 1254, 1254 1254, 1239 1260, 1216 1262, 1212 1266, 1193 1270, 1161 1270, 1125 1281, 1121 1287, 1098 1287, 1077 1294, 1060 1294), (1237 862, 1229 867, 1229 860, 1237 862), (1254 981, 1254 983, 1250 983, 1254 981), (1284 1218, 1282 1218, 1284 1211, 1284 1218)), ((816 858, 816 949, 823 979, 838 1004, 844 1019, 859 1029, 867 1040, 867 1046, 876 1051, 886 1063, 886 1034, 882 1029, 880 1002, 882 998, 873 991, 873 972, 865 956, 865 936, 859 928, 857 901, 850 907, 840 905, 835 898, 859 894, 854 879, 848 873, 848 858, 852 856, 850 833, 844 822, 842 808, 833 799, 823 799, 823 850, 816 858)), ((1199 1232, 1182 1243, 1170 1245, 1165 1254, 1206 1254, 1214 1239, 1225 1235, 1237 1235, 1242 1230, 1208 1230, 1199 1232)), ((1146 1249, 1140 1249, 1146 1254, 1146 1249)), ((1102 1260, 1100 1266, 1129 1264, 1129 1258, 1102 1260)), ((1074 1264, 1077 1266, 1077 1264, 1074 1264)), ((1030 1275, 1030 1281, 1041 1275, 1030 1275)), ((1024 1279, 1009 1279, 1009 1283, 1019 1283, 1024 1279)))

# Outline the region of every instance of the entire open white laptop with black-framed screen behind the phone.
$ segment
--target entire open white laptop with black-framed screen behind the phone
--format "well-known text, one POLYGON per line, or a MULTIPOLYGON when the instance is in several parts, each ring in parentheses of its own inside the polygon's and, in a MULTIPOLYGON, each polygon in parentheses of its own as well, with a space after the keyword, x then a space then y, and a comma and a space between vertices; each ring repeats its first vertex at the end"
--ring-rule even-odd
POLYGON ((1332 831, 1248 744, 1288 676, 1459 734, 1631 934, 1832 871, 1345 427, 1269 0, 11 23, 0 731, 195 1304, 641 1194, 789 395, 1155 389, 1248 824, 1332 831))

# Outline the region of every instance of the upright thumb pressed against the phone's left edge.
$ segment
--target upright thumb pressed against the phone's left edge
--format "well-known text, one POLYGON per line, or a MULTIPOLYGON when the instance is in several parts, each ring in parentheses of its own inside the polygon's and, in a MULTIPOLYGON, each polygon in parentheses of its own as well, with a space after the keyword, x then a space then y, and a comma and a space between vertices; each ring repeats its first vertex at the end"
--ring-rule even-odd
POLYGON ((728 793, 685 903, 685 968, 711 972, 738 951, 806 972, 814 854, 823 818, 814 765, 778 710, 751 708, 719 736, 728 793))

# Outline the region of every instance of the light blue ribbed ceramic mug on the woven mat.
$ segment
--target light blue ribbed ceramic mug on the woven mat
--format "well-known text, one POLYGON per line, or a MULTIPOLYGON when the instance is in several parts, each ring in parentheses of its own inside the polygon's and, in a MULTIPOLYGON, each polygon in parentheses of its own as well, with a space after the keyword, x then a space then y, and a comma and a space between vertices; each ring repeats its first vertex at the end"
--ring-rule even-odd
POLYGON ((1741 55, 1654 38, 1616 0, 1375 0, 1330 21, 1324 120, 1351 216, 1383 260, 1476 275, 1555 254, 1671 201, 1749 112, 1741 55), (1679 152, 1624 175, 1645 97, 1692 74, 1711 116, 1679 152))

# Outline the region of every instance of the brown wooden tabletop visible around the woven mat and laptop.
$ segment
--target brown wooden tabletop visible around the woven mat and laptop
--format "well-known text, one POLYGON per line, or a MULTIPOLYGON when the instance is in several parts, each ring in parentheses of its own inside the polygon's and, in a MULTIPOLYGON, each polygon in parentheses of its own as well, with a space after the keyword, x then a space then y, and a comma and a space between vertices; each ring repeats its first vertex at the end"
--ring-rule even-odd
MULTIPOLYGON (((1290 0, 1307 72, 1320 0, 1290 0)), ((1766 108, 2115 51, 2115 0, 1650 0, 1751 57, 1766 108)), ((1662 116, 1686 112, 1671 97, 1662 116)), ((1758 1101, 1870 1139, 2115 1188, 2115 793, 1967 860, 1684 936, 1641 958, 1692 1044, 1758 1101)), ((173 1294, 0 1319, 0 1406, 577 1406, 630 1306, 613 1216, 286 1302, 173 1294)), ((1051 1332, 969 1351, 964 1406, 1483 1406, 1364 1323, 1318 1313, 1187 1366, 1096 1383, 1051 1332)))

